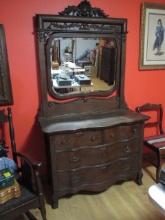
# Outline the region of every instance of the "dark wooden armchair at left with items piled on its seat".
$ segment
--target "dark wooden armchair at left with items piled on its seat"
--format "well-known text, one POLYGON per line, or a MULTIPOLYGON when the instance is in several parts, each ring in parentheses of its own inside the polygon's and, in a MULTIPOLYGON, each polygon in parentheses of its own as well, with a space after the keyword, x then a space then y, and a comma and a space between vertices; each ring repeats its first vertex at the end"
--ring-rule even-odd
POLYGON ((0 110, 0 143, 5 143, 7 129, 9 130, 12 157, 17 165, 15 178, 21 187, 21 196, 0 205, 0 219, 14 219, 22 213, 26 214, 30 219, 35 219, 30 209, 38 208, 41 211, 43 220, 46 220, 44 195, 39 174, 39 169, 42 164, 40 162, 32 162, 29 158, 16 150, 10 107, 0 110))

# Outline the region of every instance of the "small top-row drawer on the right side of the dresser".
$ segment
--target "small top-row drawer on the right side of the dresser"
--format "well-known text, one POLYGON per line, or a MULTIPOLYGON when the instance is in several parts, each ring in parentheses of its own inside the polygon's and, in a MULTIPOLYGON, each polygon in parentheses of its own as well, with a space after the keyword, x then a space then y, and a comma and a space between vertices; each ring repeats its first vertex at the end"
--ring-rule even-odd
POLYGON ((123 125, 117 127, 106 128, 103 131, 104 142, 120 141, 122 139, 130 139, 139 134, 138 125, 123 125))

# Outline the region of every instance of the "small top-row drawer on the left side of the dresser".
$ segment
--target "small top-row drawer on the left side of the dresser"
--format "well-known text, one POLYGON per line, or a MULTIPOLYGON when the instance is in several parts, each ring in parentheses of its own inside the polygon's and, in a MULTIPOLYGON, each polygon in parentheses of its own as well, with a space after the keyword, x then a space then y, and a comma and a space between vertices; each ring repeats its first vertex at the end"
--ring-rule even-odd
POLYGON ((80 146, 92 146, 102 143, 101 131, 85 131, 58 134, 54 137, 56 149, 70 149, 80 146))

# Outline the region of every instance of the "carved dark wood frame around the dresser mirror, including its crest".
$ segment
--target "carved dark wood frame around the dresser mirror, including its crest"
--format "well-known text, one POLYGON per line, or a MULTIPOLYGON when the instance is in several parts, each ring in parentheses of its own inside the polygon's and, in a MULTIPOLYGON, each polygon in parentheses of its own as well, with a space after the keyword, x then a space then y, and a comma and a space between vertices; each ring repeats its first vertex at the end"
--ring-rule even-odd
POLYGON ((115 94, 119 102, 124 101, 124 70, 125 70, 125 43, 127 34, 127 19, 109 18, 100 8, 91 7, 86 0, 78 6, 68 6, 58 15, 37 14, 36 32, 39 53, 39 72, 41 80, 41 107, 45 112, 47 107, 57 103, 89 99, 110 99, 115 94), (47 45, 54 36, 100 36, 114 37, 118 45, 116 85, 112 90, 94 91, 78 94, 56 94, 50 89, 50 74, 48 66, 47 45), (48 96, 50 100, 48 100, 48 96), (123 100, 123 101, 122 101, 123 100), (51 104, 50 104, 51 103, 51 104), (47 106, 46 106, 47 105, 47 106))

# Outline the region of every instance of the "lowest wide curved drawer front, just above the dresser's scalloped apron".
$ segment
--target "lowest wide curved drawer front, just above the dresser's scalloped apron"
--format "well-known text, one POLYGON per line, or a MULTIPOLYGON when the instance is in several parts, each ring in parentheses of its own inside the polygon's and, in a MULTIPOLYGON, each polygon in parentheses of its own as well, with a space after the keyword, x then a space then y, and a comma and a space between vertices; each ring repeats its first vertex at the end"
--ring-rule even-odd
POLYGON ((104 185, 112 184, 116 181, 116 177, 118 181, 123 178, 129 179, 131 175, 136 174, 137 168, 136 155, 132 155, 131 158, 120 158, 100 165, 57 171, 57 180, 60 183, 59 195, 79 190, 97 191, 100 187, 103 190, 104 185))

